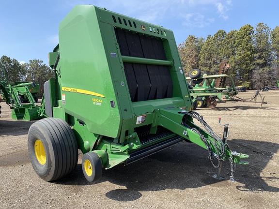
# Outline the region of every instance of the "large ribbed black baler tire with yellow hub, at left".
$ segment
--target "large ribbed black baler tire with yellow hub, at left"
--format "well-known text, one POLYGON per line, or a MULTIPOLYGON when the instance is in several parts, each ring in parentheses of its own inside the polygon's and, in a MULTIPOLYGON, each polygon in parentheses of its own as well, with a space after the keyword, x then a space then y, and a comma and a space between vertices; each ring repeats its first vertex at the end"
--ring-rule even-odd
POLYGON ((68 123, 58 118, 41 119, 28 132, 28 153, 37 175, 58 180, 78 164, 78 144, 68 123))

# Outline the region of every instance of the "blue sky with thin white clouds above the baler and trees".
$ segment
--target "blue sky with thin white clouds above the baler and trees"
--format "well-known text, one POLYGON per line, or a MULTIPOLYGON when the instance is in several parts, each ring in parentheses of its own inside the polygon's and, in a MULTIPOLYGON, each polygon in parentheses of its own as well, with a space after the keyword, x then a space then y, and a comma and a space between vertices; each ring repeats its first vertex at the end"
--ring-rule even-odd
POLYGON ((48 64, 47 54, 58 44, 59 23, 78 4, 105 7, 171 29, 177 45, 188 35, 206 38, 246 24, 279 26, 277 0, 0 0, 0 57, 48 64))

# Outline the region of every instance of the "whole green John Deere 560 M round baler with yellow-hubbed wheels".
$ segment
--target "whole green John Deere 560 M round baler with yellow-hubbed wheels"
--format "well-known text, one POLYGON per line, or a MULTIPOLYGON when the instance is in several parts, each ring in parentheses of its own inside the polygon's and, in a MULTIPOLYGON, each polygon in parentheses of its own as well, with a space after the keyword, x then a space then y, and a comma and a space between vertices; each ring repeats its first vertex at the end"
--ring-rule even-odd
POLYGON ((243 163, 192 102, 171 30, 92 5, 78 5, 59 25, 49 53, 48 118, 31 125, 29 155, 47 181, 73 171, 78 149, 87 180, 102 168, 130 164, 186 140, 209 151, 219 167, 243 163), (193 118, 201 122, 198 127, 193 118))

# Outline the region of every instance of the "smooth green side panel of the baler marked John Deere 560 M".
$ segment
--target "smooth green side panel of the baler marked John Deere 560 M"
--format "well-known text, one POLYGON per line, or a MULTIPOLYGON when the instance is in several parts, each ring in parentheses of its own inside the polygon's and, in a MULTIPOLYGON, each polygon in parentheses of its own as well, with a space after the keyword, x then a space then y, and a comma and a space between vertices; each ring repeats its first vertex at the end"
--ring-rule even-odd
POLYGON ((121 116, 99 27, 93 6, 75 7, 59 26, 62 107, 90 132, 114 138, 121 116))

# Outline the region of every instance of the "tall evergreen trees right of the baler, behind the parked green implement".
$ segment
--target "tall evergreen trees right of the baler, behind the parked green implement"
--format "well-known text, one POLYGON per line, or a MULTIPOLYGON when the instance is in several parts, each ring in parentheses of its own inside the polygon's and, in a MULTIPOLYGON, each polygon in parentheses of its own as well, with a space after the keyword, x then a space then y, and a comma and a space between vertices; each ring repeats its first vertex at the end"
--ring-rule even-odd
POLYGON ((220 64, 228 63, 236 86, 261 89, 275 86, 279 79, 278 26, 271 30, 264 23, 245 25, 228 33, 218 30, 206 39, 189 35, 178 51, 186 75, 196 68, 216 75, 220 64))

